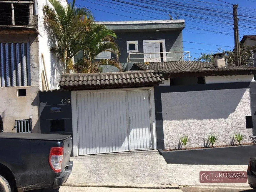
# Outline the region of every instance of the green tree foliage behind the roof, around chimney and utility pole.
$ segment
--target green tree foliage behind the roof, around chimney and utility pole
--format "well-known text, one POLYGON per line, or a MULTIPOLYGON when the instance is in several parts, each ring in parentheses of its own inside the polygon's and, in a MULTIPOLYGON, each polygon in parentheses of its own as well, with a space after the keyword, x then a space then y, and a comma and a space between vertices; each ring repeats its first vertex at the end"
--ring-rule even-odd
MULTIPOLYGON (((227 64, 236 64, 235 61, 235 49, 232 51, 225 51, 222 48, 217 49, 218 52, 225 53, 225 59, 227 61, 227 64)), ((241 53, 241 64, 242 65, 252 65, 250 62, 250 59, 252 58, 251 50, 255 53, 256 52, 256 45, 254 46, 248 46, 240 43, 240 53, 241 53)), ((213 63, 213 52, 210 53, 201 53, 199 58, 194 58, 194 61, 202 61, 202 62, 208 62, 213 63)))

